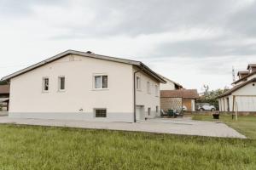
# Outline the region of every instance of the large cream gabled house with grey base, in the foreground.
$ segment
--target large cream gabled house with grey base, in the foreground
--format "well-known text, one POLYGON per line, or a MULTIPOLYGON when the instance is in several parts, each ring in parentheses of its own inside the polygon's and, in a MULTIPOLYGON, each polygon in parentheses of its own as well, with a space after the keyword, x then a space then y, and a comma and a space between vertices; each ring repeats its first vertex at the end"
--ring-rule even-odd
POLYGON ((67 50, 2 80, 9 116, 136 122, 160 115, 160 82, 140 61, 67 50))

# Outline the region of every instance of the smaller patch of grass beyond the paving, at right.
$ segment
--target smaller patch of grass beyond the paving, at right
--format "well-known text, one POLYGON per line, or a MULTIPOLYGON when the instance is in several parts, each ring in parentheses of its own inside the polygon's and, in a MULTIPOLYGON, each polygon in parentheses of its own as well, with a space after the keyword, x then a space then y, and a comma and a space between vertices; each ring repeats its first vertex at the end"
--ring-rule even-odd
POLYGON ((192 118, 199 121, 224 122, 228 126, 236 129, 239 133, 247 136, 247 138, 256 139, 256 116, 238 116, 237 121, 235 117, 232 119, 231 115, 220 115, 219 120, 212 119, 212 116, 205 115, 195 115, 192 118))

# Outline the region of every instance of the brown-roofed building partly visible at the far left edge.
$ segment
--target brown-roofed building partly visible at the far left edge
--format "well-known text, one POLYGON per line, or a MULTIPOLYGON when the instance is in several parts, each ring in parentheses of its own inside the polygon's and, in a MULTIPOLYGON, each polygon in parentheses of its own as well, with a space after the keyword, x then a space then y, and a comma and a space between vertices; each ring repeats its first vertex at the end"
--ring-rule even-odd
POLYGON ((0 111, 8 111, 9 85, 0 85, 0 111))

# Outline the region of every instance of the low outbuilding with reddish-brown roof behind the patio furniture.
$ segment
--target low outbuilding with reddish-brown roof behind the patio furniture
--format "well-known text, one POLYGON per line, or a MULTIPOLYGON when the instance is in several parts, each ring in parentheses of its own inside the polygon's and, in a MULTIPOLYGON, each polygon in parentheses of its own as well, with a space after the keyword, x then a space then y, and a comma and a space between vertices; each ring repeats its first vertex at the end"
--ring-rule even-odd
POLYGON ((164 111, 181 111, 183 106, 187 111, 195 111, 195 100, 199 98, 196 89, 161 90, 160 105, 164 111))

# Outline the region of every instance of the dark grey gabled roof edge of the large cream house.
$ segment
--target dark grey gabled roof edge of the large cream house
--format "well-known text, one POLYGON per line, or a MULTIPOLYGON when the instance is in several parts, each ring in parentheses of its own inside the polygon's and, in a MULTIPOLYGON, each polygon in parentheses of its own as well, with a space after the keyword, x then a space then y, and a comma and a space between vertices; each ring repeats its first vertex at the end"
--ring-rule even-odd
POLYGON ((155 73, 154 71, 152 71, 147 65, 144 65, 143 62, 141 61, 136 61, 136 60, 131 60, 131 59, 120 59, 120 58, 116 58, 116 57, 109 57, 106 55, 100 55, 100 54, 92 54, 92 53, 84 53, 84 52, 80 52, 80 51, 75 51, 75 50, 67 50, 65 52, 62 52, 61 54, 57 54, 49 59, 45 59, 44 61, 41 61, 35 65, 31 65, 29 67, 26 67, 25 69, 22 69, 20 71, 16 71, 13 74, 10 74, 7 77, 3 77, 1 80, 9 80, 13 77, 18 77, 21 74, 24 74, 28 71, 32 71, 42 65, 46 65, 49 64, 52 61, 55 61, 56 59, 61 59, 64 56, 67 56, 68 54, 76 54, 76 55, 80 55, 80 56, 84 56, 84 57, 90 57, 90 58, 94 58, 94 59, 105 59, 105 60, 109 60, 109 61, 113 61, 113 62, 119 62, 119 63, 124 63, 124 64, 128 64, 128 65, 137 65, 140 69, 142 69, 145 73, 147 73, 148 75, 154 77, 155 79, 159 80, 160 82, 165 83, 166 81, 160 77, 157 73, 155 73))

